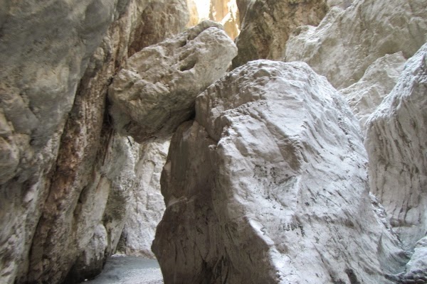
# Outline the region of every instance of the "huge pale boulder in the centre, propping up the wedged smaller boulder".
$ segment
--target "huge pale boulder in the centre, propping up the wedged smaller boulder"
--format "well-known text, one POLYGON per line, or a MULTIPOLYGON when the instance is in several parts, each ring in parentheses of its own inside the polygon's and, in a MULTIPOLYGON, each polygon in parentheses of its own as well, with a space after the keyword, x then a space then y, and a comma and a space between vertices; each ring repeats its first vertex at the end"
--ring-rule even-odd
POLYGON ((165 283, 389 283, 404 263, 366 163, 357 119, 305 63, 233 70, 172 138, 152 246, 165 283))

